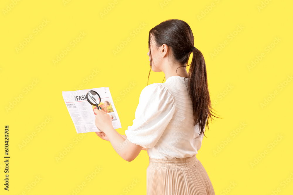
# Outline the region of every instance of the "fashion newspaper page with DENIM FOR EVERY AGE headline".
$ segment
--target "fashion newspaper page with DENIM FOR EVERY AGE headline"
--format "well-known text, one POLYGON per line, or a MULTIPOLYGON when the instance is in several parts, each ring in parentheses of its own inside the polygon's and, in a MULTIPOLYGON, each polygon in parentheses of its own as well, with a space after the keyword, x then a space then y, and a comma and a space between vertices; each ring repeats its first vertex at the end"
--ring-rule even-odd
POLYGON ((88 91, 95 91, 100 95, 99 109, 105 111, 112 119, 114 129, 119 129, 121 123, 113 103, 109 87, 83 89, 78 91, 62 92, 62 96, 69 115, 73 121, 77 133, 101 132, 95 125, 96 106, 91 105, 87 99, 88 91))

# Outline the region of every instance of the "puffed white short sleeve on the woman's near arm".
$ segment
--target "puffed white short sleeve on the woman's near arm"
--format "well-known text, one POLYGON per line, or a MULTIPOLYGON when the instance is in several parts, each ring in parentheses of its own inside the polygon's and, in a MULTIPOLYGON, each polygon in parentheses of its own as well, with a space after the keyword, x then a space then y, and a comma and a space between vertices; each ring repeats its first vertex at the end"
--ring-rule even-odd
POLYGON ((133 125, 125 130, 127 139, 144 148, 153 148, 175 112, 168 88, 159 83, 146 86, 140 96, 133 125))

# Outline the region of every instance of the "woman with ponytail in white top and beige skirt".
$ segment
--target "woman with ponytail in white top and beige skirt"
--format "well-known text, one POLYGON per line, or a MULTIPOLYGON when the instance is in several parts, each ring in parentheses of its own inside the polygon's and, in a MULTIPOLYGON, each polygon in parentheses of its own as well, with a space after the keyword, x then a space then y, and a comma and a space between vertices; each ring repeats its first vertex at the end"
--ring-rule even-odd
POLYGON ((205 60, 194 47, 190 26, 182 20, 166 20, 152 28, 148 55, 150 69, 163 71, 166 82, 142 90, 126 135, 113 128, 108 114, 96 110, 96 126, 102 131, 96 134, 110 141, 126 161, 134 160, 141 150, 148 151, 148 195, 215 194, 205 168, 196 158, 205 127, 214 115, 205 60), (190 54, 193 58, 187 73, 190 54))

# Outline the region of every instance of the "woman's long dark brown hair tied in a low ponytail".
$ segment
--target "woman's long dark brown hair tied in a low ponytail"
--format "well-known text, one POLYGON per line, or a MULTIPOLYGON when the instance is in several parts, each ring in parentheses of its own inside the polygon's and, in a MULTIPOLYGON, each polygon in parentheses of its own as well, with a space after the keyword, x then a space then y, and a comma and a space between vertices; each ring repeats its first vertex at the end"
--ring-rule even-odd
MULTIPOLYGON (((189 66, 187 63, 190 50, 194 47, 194 37, 190 26, 186 22, 177 19, 165 20, 149 31, 149 56, 152 65, 151 37, 154 37, 157 47, 166 44, 175 60, 182 65, 181 67, 189 66)), ((212 119, 212 116, 214 116, 212 113, 214 112, 212 112, 213 108, 209 96, 205 59, 197 48, 193 49, 192 54, 193 58, 188 72, 188 92, 193 104, 194 125, 200 124, 200 134, 197 136, 199 137, 202 133, 205 136, 204 128, 209 128, 209 118, 212 119)), ((149 74, 150 72, 151 66, 149 74)))

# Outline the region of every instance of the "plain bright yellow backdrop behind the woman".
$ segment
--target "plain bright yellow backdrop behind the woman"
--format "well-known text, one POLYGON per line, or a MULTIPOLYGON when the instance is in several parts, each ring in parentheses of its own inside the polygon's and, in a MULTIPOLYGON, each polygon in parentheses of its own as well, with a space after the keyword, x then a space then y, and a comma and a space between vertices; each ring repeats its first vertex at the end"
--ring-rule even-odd
MULTIPOLYGON (((77 134, 62 91, 109 87, 124 134, 147 86, 149 30, 167 19, 193 30, 223 117, 209 123, 197 155, 215 193, 292 194, 292 5, 1 1, 0 194, 146 194, 147 151, 127 162, 94 132, 77 134)), ((163 78, 151 71, 149 84, 163 78)))

